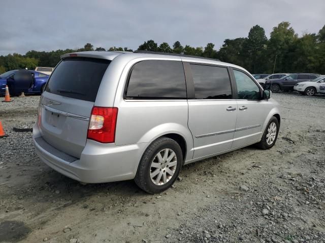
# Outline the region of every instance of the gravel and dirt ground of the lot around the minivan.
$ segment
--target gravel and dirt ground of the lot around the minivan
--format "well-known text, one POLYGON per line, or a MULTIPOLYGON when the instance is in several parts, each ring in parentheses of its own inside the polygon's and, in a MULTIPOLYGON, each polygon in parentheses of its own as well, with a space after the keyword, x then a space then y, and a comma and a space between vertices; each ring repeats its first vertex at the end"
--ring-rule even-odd
POLYGON ((133 181, 82 185, 36 155, 39 96, 0 102, 0 242, 325 242, 325 97, 274 94, 281 128, 184 166, 158 195, 133 181))

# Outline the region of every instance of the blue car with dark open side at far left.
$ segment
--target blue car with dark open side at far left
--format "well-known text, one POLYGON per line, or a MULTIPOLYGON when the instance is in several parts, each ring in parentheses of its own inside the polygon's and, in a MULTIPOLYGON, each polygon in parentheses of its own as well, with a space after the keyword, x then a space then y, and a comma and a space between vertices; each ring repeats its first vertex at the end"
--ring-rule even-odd
POLYGON ((49 75, 33 70, 11 70, 0 75, 0 94, 6 92, 8 85, 11 95, 21 94, 41 94, 49 75))

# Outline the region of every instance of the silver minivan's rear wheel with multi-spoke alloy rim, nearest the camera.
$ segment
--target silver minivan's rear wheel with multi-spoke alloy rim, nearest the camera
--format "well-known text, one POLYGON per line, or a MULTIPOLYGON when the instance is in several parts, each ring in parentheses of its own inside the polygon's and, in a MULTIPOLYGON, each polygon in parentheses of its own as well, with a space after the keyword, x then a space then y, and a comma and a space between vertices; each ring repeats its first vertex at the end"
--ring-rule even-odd
POLYGON ((183 164, 182 149, 170 138, 160 137, 144 152, 135 177, 136 184, 154 194, 173 185, 183 164))

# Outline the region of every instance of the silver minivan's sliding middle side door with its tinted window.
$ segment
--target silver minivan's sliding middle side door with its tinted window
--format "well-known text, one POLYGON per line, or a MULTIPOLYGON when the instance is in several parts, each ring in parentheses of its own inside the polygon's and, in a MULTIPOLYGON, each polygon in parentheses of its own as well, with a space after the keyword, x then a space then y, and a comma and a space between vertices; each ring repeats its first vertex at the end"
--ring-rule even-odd
POLYGON ((197 63, 184 63, 184 67, 187 67, 187 84, 193 84, 193 94, 188 98, 193 158, 230 149, 236 127, 237 103, 232 99, 229 69, 197 63))

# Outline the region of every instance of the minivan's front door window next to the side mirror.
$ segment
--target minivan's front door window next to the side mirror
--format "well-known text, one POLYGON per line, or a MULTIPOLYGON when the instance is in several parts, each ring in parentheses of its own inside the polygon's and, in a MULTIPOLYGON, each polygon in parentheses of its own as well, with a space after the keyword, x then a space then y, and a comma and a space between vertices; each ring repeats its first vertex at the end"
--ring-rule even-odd
POLYGON ((238 99, 258 100, 261 95, 259 88, 255 82, 246 74, 238 70, 234 70, 238 99))

